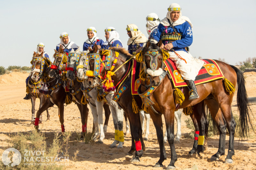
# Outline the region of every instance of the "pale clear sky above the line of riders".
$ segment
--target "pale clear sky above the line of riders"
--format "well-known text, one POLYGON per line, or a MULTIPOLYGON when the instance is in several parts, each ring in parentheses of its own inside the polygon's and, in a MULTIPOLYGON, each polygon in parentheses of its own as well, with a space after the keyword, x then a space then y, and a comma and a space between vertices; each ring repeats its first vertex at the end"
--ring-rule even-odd
MULTIPOLYGON (((37 44, 43 42, 52 60, 60 34, 68 32, 71 41, 83 48, 86 29, 94 26, 104 41, 104 29, 113 26, 127 49, 127 24, 135 24, 147 37, 146 16, 166 16, 172 3, 180 4, 182 16, 193 24, 190 53, 203 59, 225 59, 235 65, 256 57, 255 0, 0 0, 0 66, 31 66, 37 44)), ((81 50, 82 51, 82 50, 81 50)))

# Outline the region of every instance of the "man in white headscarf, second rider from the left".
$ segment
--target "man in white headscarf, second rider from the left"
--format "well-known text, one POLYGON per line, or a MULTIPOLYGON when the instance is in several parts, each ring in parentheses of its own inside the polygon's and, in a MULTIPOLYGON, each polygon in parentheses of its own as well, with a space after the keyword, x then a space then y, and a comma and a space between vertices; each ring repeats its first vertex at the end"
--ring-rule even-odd
POLYGON ((60 34, 60 44, 56 46, 57 51, 59 51, 59 48, 63 48, 64 53, 69 53, 72 49, 74 49, 74 51, 77 50, 78 46, 73 41, 70 41, 68 35, 67 32, 62 32, 60 34))

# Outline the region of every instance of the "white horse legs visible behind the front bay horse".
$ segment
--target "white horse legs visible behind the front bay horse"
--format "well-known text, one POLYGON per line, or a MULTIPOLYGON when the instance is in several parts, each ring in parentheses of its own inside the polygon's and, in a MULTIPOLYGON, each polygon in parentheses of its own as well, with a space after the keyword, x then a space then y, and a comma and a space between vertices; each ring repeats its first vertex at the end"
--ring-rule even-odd
MULTIPOLYGON (((180 143, 180 137, 181 137, 181 114, 182 111, 179 109, 174 112, 174 117, 177 122, 177 134, 175 141, 180 143)), ((140 111, 140 122, 141 122, 141 127, 142 127, 142 134, 144 133, 144 118, 146 119, 146 131, 145 131, 145 136, 143 137, 143 140, 148 140, 148 135, 149 135, 149 121, 150 121, 150 116, 149 114, 145 114, 143 110, 140 111)), ((164 143, 167 142, 167 131, 165 131, 164 135, 164 143)))

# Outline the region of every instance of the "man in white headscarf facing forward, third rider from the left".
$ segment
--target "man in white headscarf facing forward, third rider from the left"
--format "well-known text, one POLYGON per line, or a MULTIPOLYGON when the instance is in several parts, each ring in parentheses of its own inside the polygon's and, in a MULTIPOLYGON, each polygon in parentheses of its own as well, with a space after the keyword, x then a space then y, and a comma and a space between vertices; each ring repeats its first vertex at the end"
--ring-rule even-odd
POLYGON ((99 49, 101 48, 104 41, 97 37, 96 32, 96 29, 92 26, 87 29, 88 39, 84 42, 83 51, 88 50, 88 47, 93 48, 95 43, 99 49))

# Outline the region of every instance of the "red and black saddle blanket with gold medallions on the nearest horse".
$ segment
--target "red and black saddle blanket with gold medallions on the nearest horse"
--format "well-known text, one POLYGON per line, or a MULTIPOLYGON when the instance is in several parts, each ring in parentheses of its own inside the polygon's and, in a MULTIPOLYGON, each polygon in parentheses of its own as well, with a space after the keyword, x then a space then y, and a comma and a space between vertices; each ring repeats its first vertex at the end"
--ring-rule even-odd
MULTIPOLYGON (((203 67, 200 69, 199 73, 196 76, 196 85, 224 78, 220 70, 220 67, 214 60, 204 59, 203 61, 205 62, 205 64, 203 65, 203 67)), ((164 64, 168 68, 168 73, 172 77, 174 87, 187 86, 187 83, 185 82, 183 77, 181 77, 180 71, 177 69, 174 61, 168 59, 164 61, 164 64)))

